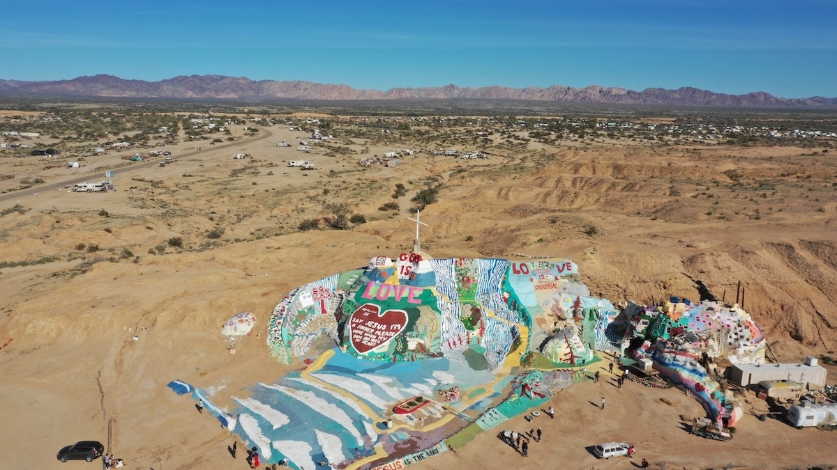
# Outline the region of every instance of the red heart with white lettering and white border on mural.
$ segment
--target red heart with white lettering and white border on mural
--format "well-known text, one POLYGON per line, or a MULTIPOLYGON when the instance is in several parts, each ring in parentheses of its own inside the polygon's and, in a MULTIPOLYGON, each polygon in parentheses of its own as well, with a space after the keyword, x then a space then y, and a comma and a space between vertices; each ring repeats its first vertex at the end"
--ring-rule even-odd
POLYGON ((407 312, 393 309, 381 314, 376 304, 362 304, 349 319, 352 346, 365 354, 400 335, 407 328, 407 312))

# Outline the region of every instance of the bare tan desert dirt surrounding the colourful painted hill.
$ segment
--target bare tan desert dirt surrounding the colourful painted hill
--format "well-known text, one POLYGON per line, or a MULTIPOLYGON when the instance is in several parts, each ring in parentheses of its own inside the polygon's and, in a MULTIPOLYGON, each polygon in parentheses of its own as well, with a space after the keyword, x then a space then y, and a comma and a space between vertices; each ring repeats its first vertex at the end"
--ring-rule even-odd
MULTIPOLYGON (((601 144, 487 161, 419 153, 388 168, 358 166, 357 155, 304 155, 295 151, 302 134, 269 131, 224 149, 181 144, 166 168, 116 169, 116 192, 0 199, 0 210, 22 207, 0 217, 0 261, 58 259, 0 268, 0 467, 85 467, 55 460, 60 447, 82 439, 109 442, 128 468, 244 467, 226 450, 229 432, 165 384, 223 387, 219 396, 229 396, 300 367, 268 356, 271 309, 295 286, 407 249, 409 199, 426 183, 442 185, 422 212, 424 250, 436 258, 570 258, 593 293, 614 303, 697 299, 698 280, 730 302, 740 281, 745 308, 780 360, 837 350, 834 154, 601 144), (275 147, 280 140, 292 146, 275 147), (251 158, 232 160, 239 151, 251 158), (302 158, 317 170, 285 164, 302 158), (397 183, 408 193, 393 199, 397 183), (393 201, 400 212, 378 210, 393 201), (300 232, 300 222, 341 202, 367 222, 300 232), (220 238, 207 237, 221 228, 220 238), (168 244, 177 237, 182 248, 168 244), (230 355, 220 326, 244 310, 260 323, 230 355)), ((121 163, 114 154, 98 158, 80 169, 91 181, 121 163)), ((0 174, 18 180, 73 176, 43 167, 38 157, 0 159, 0 174)), ((552 404, 556 419, 537 418, 545 440, 526 460, 486 432, 415 467, 632 468, 642 457, 659 468, 837 465, 837 433, 750 415, 732 442, 693 437, 679 416, 701 408, 677 391, 603 381, 573 386, 552 404), (604 411, 599 396, 608 398, 604 411), (598 461, 587 450, 611 440, 635 443, 634 461, 598 461)), ((522 417, 509 426, 531 427, 522 417)))

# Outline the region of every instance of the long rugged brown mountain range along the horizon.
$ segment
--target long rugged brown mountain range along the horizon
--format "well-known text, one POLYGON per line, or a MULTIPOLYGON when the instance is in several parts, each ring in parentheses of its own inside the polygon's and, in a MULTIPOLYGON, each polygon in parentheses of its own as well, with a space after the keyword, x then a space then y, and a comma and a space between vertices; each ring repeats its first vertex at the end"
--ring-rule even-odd
POLYGON ((178 76, 158 82, 126 80, 113 75, 95 75, 71 80, 18 81, 0 79, 0 95, 28 97, 157 98, 174 100, 535 100, 564 103, 614 105, 729 106, 745 108, 807 108, 837 106, 837 98, 788 99, 763 92, 725 95, 705 89, 650 88, 633 91, 591 85, 572 88, 443 87, 354 89, 345 84, 317 84, 303 81, 276 81, 225 77, 222 75, 178 76))

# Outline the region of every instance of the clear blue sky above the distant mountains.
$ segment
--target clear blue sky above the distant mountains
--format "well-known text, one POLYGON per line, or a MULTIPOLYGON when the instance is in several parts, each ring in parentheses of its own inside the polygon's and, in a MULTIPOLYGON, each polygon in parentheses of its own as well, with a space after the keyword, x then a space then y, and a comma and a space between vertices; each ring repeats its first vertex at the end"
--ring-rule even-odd
POLYGON ((0 79, 590 84, 837 97, 837 1, 0 0, 0 79))

